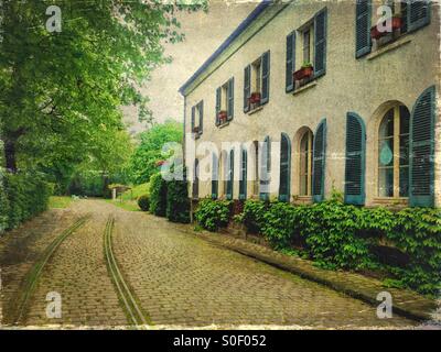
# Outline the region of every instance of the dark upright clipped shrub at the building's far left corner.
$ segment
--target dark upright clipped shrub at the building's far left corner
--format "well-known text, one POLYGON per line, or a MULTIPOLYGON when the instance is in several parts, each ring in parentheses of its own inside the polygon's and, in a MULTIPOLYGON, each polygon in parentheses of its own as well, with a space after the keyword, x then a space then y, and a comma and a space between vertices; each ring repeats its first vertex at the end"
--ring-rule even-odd
POLYGON ((185 179, 168 183, 166 218, 172 222, 190 222, 189 187, 185 179))

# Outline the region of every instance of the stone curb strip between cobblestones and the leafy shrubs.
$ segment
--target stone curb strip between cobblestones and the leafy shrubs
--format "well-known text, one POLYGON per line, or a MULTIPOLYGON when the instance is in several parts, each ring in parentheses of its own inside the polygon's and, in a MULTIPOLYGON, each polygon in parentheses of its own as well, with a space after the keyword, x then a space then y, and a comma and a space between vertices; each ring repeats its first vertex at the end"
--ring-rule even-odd
POLYGON ((438 307, 434 300, 426 298, 411 290, 389 287, 386 288, 383 286, 381 282, 365 277, 359 274, 322 270, 313 266, 309 261, 291 257, 282 253, 268 250, 259 244, 249 243, 249 245, 247 245, 248 243, 237 243, 239 241, 245 242, 245 240, 238 240, 230 235, 216 235, 208 231, 198 232, 191 229, 185 229, 183 232, 196 235, 197 238, 201 238, 214 245, 228 249, 241 255, 246 255, 282 271, 292 273, 302 278, 324 285, 338 293, 359 299, 375 307, 380 304, 380 301, 376 299, 377 295, 380 292, 389 292, 392 296, 392 312, 418 322, 431 320, 431 315, 437 310, 438 307), (262 251, 259 252, 257 250, 252 250, 251 246, 259 246, 262 249, 262 251), (268 252, 268 254, 262 253, 263 251, 268 252), (299 264, 294 262, 299 262, 299 264), (358 282, 355 284, 361 284, 363 287, 357 287, 357 285, 354 285, 354 282, 358 282))

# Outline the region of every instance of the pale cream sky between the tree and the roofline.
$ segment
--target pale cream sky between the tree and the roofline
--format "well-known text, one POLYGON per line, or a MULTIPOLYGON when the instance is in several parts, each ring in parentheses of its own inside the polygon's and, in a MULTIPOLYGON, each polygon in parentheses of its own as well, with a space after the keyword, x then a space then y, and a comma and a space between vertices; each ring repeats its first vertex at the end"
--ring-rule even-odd
MULTIPOLYGON (((157 122, 168 119, 183 121, 184 99, 179 88, 202 66, 227 36, 257 7, 259 1, 212 0, 208 12, 181 12, 178 20, 185 40, 178 44, 165 44, 164 54, 173 62, 157 68, 151 80, 141 91, 150 98, 149 108, 157 122)), ((123 108, 125 121, 132 133, 146 130, 136 109, 123 108)))

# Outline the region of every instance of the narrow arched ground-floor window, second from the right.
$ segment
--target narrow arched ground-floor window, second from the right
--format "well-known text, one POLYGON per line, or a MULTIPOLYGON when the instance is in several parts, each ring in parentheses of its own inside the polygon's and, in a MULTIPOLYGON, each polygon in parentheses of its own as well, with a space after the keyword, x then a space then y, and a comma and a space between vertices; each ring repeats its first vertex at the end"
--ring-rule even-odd
POLYGON ((299 195, 312 195, 312 145, 313 134, 311 130, 306 130, 300 140, 299 153, 299 195))

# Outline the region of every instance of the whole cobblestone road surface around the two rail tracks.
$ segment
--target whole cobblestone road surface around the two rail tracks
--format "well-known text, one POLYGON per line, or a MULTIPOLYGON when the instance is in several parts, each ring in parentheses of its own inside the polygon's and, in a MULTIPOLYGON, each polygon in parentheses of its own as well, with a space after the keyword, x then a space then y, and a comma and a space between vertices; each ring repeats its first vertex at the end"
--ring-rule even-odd
POLYGON ((376 310, 319 284, 185 234, 179 227, 98 200, 51 210, 0 240, 2 323, 11 323, 20 283, 44 248, 82 215, 88 222, 60 245, 29 301, 26 326, 123 326, 127 315, 106 267, 104 232, 115 218, 112 246, 131 292, 149 321, 162 326, 400 328, 404 318, 376 310), (62 295, 61 319, 45 315, 46 294, 62 295))

